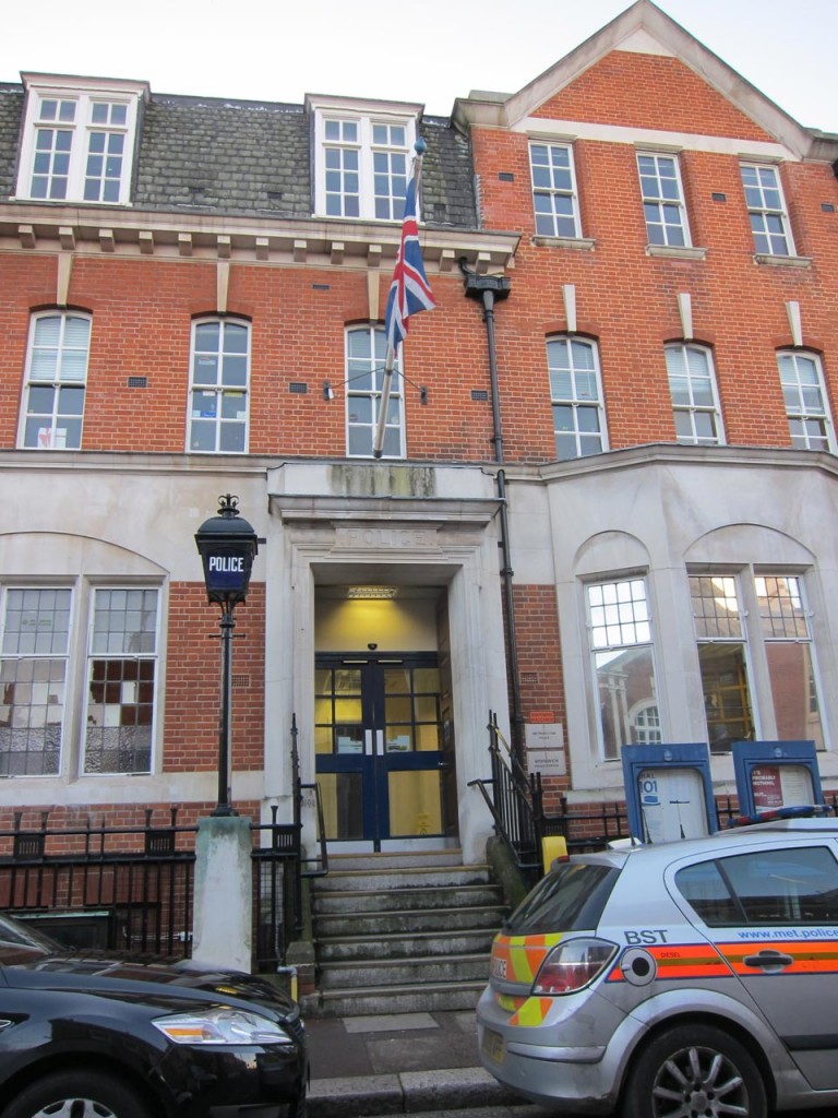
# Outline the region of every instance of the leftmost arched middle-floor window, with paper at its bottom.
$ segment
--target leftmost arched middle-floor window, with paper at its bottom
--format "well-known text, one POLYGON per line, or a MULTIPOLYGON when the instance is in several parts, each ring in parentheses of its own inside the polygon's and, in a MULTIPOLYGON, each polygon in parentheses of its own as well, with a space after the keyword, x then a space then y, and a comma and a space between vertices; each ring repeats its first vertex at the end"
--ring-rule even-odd
POLYGON ((91 319, 48 311, 32 315, 20 444, 40 451, 82 446, 91 319))

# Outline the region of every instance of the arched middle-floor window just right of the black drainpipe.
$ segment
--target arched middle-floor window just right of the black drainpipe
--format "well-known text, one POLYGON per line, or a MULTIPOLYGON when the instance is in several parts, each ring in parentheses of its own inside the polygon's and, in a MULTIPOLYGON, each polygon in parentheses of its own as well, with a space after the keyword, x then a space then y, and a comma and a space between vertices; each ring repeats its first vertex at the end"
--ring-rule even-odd
POLYGON ((582 458, 608 449, 596 343, 550 338, 547 370, 556 457, 582 458))

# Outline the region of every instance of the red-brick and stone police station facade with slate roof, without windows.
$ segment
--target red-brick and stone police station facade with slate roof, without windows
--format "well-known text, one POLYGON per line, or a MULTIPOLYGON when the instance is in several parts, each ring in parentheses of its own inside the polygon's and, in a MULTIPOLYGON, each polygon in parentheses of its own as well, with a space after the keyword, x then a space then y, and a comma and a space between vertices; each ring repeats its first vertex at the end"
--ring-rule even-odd
MULTIPOLYGON (((76 723, 65 728, 57 809, 102 812, 115 824, 172 803, 191 819, 211 803, 216 617, 191 537, 221 492, 239 495, 267 538, 235 642, 232 767, 255 815, 289 809, 292 716, 303 728, 303 775, 315 775, 314 603, 318 588, 359 580, 441 596, 436 648, 446 662, 450 654, 460 799, 468 778, 486 775, 486 709, 499 702, 506 718, 517 691, 513 720, 550 714, 562 728, 569 771, 549 784, 549 803, 565 792, 620 800, 618 766, 606 764, 598 739, 584 616, 584 588, 598 579, 649 579, 669 740, 706 733, 687 574, 747 575, 775 563, 808 580, 823 721, 838 726, 838 538, 826 522, 836 444, 792 446, 777 366, 779 349, 817 357, 825 397, 838 407, 838 140, 800 129, 743 88, 653 6, 621 19, 626 38, 613 49, 603 40, 599 53, 588 44, 584 65, 574 53, 505 101, 476 95, 450 121, 418 120, 428 143, 420 239, 437 310, 411 320, 403 348, 407 453, 398 462, 347 456, 344 373, 347 329, 382 321, 399 228, 316 212, 322 153, 311 106, 152 92, 137 125, 131 205, 85 208, 15 193, 18 130, 31 125, 21 125, 20 87, 0 88, 0 467, 15 494, 0 580, 57 581, 83 601, 109 585, 153 585, 162 595, 155 768, 131 777, 145 785, 123 780, 125 803, 118 788, 77 785, 79 637, 68 660, 76 723), (658 53, 638 48, 632 20, 658 38, 658 53), (536 235, 531 140, 571 146, 578 237, 536 235), (648 244, 644 152, 677 161, 684 250, 648 244), (778 170, 794 246, 788 257, 755 254, 743 161, 778 170), (465 297, 461 272, 511 280, 510 297, 494 305, 494 401, 485 307, 465 297), (82 447, 56 454, 19 440, 30 320, 49 310, 93 322, 82 447), (251 329, 244 455, 187 448, 191 330, 201 318, 251 329), (568 334, 596 343, 607 442, 590 458, 558 461, 545 342, 568 334), (677 440, 664 347, 683 342, 712 353, 718 446, 677 440), (507 575, 495 561, 501 466, 517 689, 501 631, 507 575), (352 524, 362 532, 347 540, 352 524)), ((340 651, 383 652, 377 636, 359 632, 356 647, 340 651)), ((754 705, 784 737, 791 723, 772 726, 766 675, 758 663, 754 705)), ((730 794, 732 770, 718 766, 718 792, 730 794)), ((829 735, 822 769, 838 779, 829 735)), ((44 785, 30 780, 0 812, 12 811, 17 788, 40 808, 44 785)), ((478 837, 485 830, 485 819, 474 824, 478 837)))

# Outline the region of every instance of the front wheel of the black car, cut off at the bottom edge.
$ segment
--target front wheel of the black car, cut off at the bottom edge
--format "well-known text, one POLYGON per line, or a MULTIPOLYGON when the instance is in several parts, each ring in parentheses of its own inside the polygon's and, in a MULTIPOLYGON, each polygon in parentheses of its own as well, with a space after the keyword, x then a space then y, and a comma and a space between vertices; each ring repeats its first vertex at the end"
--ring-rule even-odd
POLYGON ((67 1071, 23 1088, 2 1118, 151 1118, 136 1095, 111 1076, 67 1071))

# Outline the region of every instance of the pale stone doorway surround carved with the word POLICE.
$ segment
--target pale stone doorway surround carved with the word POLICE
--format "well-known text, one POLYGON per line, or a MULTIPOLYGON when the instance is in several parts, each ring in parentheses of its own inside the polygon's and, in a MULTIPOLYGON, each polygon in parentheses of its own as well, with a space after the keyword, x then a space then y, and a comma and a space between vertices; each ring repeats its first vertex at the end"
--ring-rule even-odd
MULTIPOLYGON (((317 586, 447 588, 463 858, 480 862, 492 819, 469 781, 487 777, 489 709, 508 726, 494 479, 478 466, 284 463, 268 471, 265 805, 291 817, 291 724, 314 781, 317 586)), ((314 834, 304 804, 304 841, 314 834)))

